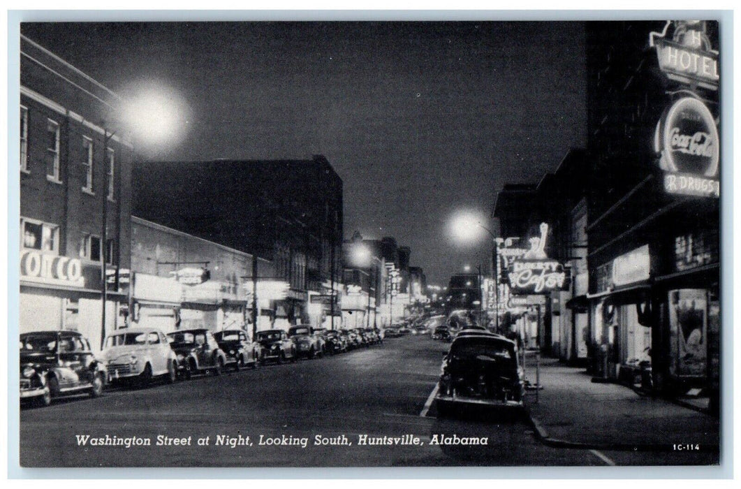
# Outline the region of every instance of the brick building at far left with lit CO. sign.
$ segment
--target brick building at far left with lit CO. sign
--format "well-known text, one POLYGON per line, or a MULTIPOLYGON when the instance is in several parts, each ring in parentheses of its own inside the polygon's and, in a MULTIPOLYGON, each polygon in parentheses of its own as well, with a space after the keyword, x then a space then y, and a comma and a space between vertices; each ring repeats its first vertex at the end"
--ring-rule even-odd
POLYGON ((133 148, 107 125, 116 93, 20 45, 19 329, 78 330, 99 350, 129 315, 133 148))

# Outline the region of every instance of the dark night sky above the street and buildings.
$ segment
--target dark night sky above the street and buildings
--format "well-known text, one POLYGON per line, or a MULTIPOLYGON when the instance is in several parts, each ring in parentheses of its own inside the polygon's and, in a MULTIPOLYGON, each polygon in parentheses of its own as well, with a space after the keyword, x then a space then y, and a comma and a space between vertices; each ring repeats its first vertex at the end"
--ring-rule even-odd
MULTIPOLYGON (((123 95, 176 90, 185 137, 159 160, 327 156, 345 237, 394 236, 447 285, 491 245, 448 218, 489 216, 505 183, 536 183, 585 144, 581 23, 22 24, 21 33, 123 95)), ((494 223, 490 222, 494 227, 494 223)))

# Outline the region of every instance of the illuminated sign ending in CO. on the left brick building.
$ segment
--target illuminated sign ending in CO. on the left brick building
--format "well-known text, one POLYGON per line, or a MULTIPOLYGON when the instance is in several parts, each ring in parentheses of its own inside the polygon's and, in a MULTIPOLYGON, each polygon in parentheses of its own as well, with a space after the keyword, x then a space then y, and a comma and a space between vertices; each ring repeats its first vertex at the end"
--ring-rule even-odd
POLYGON ((21 279, 52 285, 85 285, 79 259, 36 250, 21 251, 21 279))

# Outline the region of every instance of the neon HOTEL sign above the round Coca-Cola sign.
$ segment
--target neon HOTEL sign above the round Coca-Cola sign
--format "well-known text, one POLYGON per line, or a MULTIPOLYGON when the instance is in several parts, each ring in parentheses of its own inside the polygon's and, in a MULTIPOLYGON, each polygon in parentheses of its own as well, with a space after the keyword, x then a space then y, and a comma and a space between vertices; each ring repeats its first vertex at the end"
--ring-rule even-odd
POLYGON ((656 47, 659 69, 669 79, 718 89, 718 52, 711 49, 702 21, 668 21, 663 32, 649 35, 649 44, 656 47), (671 41, 666 39, 670 27, 674 27, 671 41))

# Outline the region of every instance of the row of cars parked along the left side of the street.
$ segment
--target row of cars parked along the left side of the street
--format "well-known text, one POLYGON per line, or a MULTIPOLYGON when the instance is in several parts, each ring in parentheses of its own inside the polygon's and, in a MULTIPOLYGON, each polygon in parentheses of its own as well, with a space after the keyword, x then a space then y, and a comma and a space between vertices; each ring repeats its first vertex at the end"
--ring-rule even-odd
POLYGON ((159 377, 173 383, 199 373, 218 376, 227 368, 257 368, 267 362, 296 362, 344 353, 382 342, 374 328, 327 330, 293 326, 259 331, 212 332, 205 328, 163 333, 153 327, 116 330, 96 355, 81 333, 37 331, 20 336, 21 402, 50 405, 59 396, 97 397, 109 384, 147 385, 159 377))

